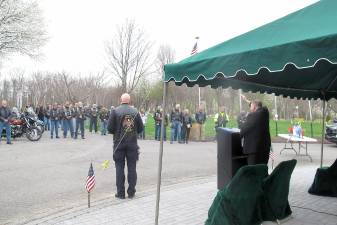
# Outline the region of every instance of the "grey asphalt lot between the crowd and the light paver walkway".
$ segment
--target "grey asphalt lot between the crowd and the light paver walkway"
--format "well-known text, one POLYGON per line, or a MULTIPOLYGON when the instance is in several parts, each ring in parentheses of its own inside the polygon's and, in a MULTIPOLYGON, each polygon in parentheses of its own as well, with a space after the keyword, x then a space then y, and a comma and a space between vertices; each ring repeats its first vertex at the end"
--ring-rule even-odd
MULTIPOLYGON (((137 190, 156 187, 159 142, 140 141, 137 190)), ((282 144, 274 144, 276 153, 282 144)), ((305 168, 319 164, 319 145, 309 145, 314 163, 298 158, 305 168)), ((93 201, 115 193, 115 170, 112 163, 112 137, 88 134, 85 140, 49 139, 48 133, 39 142, 18 139, 14 145, 0 144, 0 224, 25 223, 66 208, 87 203, 85 179, 90 161, 96 174, 93 201), (100 164, 110 160, 111 166, 100 164)), ((293 158, 286 151, 276 161, 293 158)), ((335 145, 326 145, 325 159, 329 165, 337 157, 335 145)), ((165 143, 163 186, 193 181, 216 175, 216 143, 190 142, 188 145, 165 143)))

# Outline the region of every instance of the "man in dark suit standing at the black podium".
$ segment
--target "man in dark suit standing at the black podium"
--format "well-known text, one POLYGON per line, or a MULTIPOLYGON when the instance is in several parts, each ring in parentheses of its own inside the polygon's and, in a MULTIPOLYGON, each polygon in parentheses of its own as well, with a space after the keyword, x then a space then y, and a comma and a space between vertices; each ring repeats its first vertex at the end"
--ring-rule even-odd
POLYGON ((248 165, 267 164, 271 146, 269 111, 260 101, 250 102, 250 110, 240 130, 243 153, 248 155, 248 165))

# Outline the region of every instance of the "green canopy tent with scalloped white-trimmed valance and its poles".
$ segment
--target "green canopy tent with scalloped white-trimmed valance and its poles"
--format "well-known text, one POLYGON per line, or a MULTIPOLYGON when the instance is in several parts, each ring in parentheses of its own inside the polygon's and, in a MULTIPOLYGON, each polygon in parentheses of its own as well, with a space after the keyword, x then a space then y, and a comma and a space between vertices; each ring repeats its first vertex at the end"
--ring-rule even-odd
MULTIPOLYGON (((164 113, 167 84, 170 81, 176 85, 232 87, 290 98, 321 99, 322 166, 325 103, 337 98, 336 10, 337 1, 322 0, 179 63, 165 65, 164 113)), ((161 141, 156 224, 162 156, 161 141)))

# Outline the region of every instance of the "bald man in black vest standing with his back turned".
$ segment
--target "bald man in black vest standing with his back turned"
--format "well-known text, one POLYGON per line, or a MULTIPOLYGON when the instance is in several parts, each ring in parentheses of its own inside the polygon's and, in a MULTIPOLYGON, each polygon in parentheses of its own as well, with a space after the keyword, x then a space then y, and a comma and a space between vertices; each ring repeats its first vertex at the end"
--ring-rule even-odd
POLYGON ((111 111, 108 121, 108 131, 114 136, 113 159, 116 165, 116 198, 125 198, 125 159, 128 164, 128 197, 136 193, 138 160, 137 136, 143 131, 143 122, 138 111, 130 105, 130 95, 121 96, 121 105, 111 111))

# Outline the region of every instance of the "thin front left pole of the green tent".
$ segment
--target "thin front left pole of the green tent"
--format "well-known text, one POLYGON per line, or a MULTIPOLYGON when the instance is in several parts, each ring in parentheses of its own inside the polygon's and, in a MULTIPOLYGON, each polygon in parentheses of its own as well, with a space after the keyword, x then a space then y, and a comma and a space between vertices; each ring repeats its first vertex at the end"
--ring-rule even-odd
POLYGON ((158 221, 159 221, 160 185, 161 185, 161 171, 162 171, 162 165, 163 165, 163 147, 164 147, 164 129, 165 129, 164 124, 165 124, 165 115, 166 115, 167 86, 168 86, 168 83, 164 82, 163 114, 162 114, 162 122, 161 122, 161 128, 160 128, 161 132, 160 132, 160 148, 159 148, 159 163, 158 163, 155 225, 158 225, 158 221))

